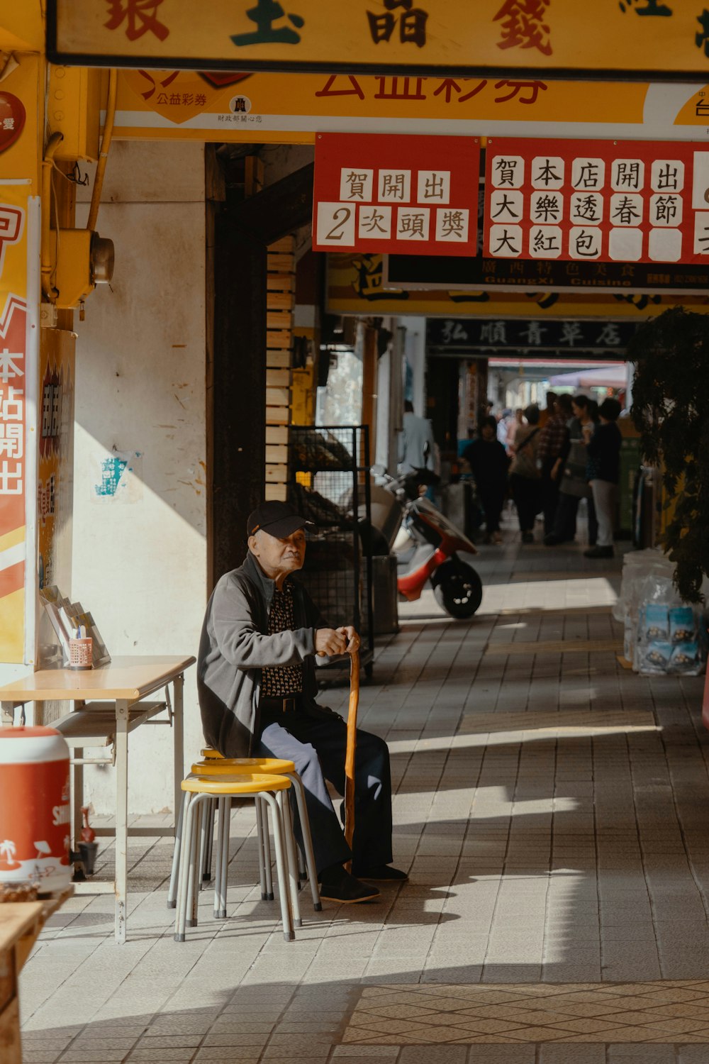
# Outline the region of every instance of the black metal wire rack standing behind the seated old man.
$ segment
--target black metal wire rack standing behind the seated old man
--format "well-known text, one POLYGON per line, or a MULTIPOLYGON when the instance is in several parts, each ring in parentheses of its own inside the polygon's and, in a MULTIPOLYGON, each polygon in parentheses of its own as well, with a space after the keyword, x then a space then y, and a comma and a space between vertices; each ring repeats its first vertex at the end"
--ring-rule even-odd
POLYGON ((288 501, 316 526, 299 578, 334 628, 354 625, 360 633, 369 677, 372 553, 369 535, 359 534, 360 522, 371 528, 369 426, 290 426, 288 501))

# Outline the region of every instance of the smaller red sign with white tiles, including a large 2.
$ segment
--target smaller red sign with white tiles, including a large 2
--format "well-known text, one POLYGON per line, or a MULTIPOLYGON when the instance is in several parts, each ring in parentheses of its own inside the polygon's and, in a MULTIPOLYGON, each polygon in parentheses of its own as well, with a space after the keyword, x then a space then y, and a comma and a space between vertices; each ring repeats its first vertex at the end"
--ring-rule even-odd
POLYGON ((316 136, 314 251, 474 255, 479 142, 316 136))

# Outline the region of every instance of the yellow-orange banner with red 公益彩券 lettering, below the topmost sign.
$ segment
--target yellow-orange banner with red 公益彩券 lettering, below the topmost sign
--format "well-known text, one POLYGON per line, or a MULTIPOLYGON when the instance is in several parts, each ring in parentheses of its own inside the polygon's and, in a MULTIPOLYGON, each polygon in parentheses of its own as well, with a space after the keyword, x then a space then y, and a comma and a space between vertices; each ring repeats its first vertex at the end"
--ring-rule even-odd
POLYGON ((119 73, 114 135, 301 144, 332 131, 706 140, 708 129, 706 82, 138 69, 119 73))

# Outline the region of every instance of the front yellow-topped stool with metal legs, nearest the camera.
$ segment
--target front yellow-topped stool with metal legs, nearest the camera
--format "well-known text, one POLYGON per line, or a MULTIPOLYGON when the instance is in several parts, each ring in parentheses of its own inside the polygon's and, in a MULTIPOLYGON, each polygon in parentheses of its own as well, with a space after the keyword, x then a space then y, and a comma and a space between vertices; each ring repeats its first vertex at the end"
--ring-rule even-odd
POLYGON ((284 796, 291 787, 290 780, 286 779, 285 776, 244 772, 232 776, 219 775, 218 777, 188 777, 182 781, 181 786, 185 799, 183 807, 184 838, 180 847, 174 941, 184 942, 185 928, 197 927, 197 880, 200 868, 198 844, 203 807, 210 798, 216 798, 219 803, 215 909, 225 913, 230 799, 252 797, 256 805, 264 803, 266 821, 269 811, 271 813, 283 935, 286 942, 290 942, 296 936, 291 913, 293 899, 298 905, 294 866, 288 867, 287 851, 284 845, 287 834, 290 834, 292 839, 290 819, 283 801, 284 796), (290 890, 288 881, 290 881, 290 890))

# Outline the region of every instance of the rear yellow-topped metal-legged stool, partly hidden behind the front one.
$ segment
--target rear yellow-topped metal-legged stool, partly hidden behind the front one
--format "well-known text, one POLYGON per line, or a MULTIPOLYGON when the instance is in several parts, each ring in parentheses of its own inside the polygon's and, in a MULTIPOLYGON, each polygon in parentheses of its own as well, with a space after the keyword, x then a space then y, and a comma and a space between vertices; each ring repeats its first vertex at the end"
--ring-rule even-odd
MULTIPOLYGON (((318 871, 315 864, 315 853, 313 851, 313 837, 310 835, 310 824, 307 815, 307 807, 305 804, 305 791, 303 789, 303 783, 300 776, 296 771, 296 765, 292 761, 287 761, 285 758, 221 758, 219 760, 207 759, 205 761, 197 761, 192 765, 190 771, 193 776, 223 776, 230 774, 240 774, 240 772, 275 772, 278 776, 285 776, 293 784, 293 793, 296 795, 296 804, 298 807, 298 817, 301 824, 301 835, 303 838, 303 855, 305 858, 305 868, 307 871, 308 881, 310 883, 310 894, 313 896, 313 908, 316 912, 320 912, 322 909, 322 902, 320 901, 320 892, 318 887, 318 871)), ((273 900, 273 886, 271 883, 271 858, 269 851, 269 837, 268 832, 263 830, 263 825, 260 822, 259 808, 256 805, 256 829, 258 834, 258 849, 259 849, 259 877, 261 884, 261 900, 273 900)), ((288 844, 288 861, 293 864, 298 872, 298 863, 294 847, 291 850, 290 839, 292 838, 292 832, 286 835, 286 842, 288 844)), ((203 861, 201 862, 201 867, 208 862, 212 864, 212 855, 208 852, 208 845, 210 838, 207 837, 202 848, 203 861)), ((208 872, 207 872, 208 875, 208 872)), ((299 884, 300 885, 300 884, 299 884)), ((220 914, 217 914, 220 915, 220 914)), ((224 915, 226 915, 224 913, 224 915)), ((301 918, 300 912, 294 914, 296 927, 300 927, 301 918)))

